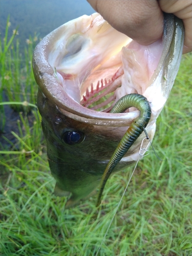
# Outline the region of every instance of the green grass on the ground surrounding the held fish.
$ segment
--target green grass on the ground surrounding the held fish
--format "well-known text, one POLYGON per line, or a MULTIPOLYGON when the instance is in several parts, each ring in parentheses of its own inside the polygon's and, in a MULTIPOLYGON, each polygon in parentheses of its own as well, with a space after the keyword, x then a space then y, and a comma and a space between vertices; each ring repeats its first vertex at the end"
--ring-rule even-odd
MULTIPOLYGON (((191 61, 192 54, 183 56, 157 120, 153 145, 163 161, 150 149, 139 162, 98 255, 192 255, 191 61)), ((34 94, 28 87, 28 98, 9 100, 34 104, 34 94)), ((9 146, 0 145, 0 255, 96 255, 134 166, 109 179, 100 208, 95 196, 65 210, 66 198, 52 194, 38 112, 33 105, 31 115, 22 111, 12 132, 16 143, 5 138, 9 146)))

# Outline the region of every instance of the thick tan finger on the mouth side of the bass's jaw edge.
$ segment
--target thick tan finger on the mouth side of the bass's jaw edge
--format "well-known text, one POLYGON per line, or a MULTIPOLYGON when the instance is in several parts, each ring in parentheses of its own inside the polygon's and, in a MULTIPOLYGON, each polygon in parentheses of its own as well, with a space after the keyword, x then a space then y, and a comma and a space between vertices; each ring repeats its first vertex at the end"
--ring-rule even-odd
POLYGON ((163 13, 157 1, 88 0, 112 27, 141 45, 150 45, 163 33, 163 13))

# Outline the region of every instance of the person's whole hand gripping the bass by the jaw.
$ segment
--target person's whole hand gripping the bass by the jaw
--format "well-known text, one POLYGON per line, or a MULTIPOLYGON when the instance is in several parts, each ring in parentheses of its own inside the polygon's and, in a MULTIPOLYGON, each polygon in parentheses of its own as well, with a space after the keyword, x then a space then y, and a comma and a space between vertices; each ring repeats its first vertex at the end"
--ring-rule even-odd
POLYGON ((183 20, 185 38, 183 54, 192 51, 192 0, 87 0, 112 27, 150 45, 162 37, 163 12, 183 20))

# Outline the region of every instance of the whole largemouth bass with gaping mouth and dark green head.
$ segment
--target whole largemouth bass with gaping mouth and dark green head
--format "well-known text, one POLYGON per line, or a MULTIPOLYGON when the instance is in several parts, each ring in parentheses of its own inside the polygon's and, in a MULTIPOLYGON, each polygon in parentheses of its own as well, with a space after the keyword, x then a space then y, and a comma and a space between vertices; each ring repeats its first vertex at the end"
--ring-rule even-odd
MULTIPOLYGON (((183 24, 172 14, 164 16, 162 39, 141 46, 94 13, 60 26, 36 46, 37 105, 54 193, 69 198, 66 207, 94 193, 127 127, 139 116, 135 108, 108 113, 122 96, 138 93, 150 102, 146 132, 153 139, 179 69, 183 38, 183 24)), ((144 137, 142 133, 113 172, 138 160, 144 137)))

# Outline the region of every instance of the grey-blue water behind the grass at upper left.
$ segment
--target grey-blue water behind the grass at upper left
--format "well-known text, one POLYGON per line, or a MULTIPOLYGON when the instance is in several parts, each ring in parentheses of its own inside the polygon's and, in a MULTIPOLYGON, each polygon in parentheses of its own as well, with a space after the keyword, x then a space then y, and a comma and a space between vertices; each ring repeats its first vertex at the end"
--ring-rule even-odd
POLYGON ((10 14, 10 35, 18 27, 17 38, 25 47, 30 35, 42 38, 69 20, 93 12, 86 0, 0 0, 0 32, 5 35, 10 14))

